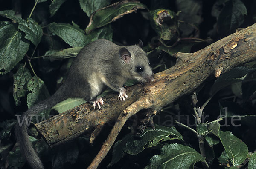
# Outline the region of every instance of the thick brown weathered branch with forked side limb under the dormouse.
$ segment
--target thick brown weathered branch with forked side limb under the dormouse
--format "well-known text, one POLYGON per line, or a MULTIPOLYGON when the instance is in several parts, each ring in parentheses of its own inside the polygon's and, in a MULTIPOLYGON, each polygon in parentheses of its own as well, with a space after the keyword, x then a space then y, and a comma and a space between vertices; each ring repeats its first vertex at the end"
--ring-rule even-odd
POLYGON ((176 57, 176 65, 155 74, 153 83, 128 87, 129 97, 125 102, 120 103, 117 95, 110 95, 104 98, 102 110, 93 110, 91 104, 85 103, 35 126, 49 146, 55 146, 81 134, 90 134, 90 129, 94 129, 90 139, 93 143, 106 123, 116 121, 108 139, 89 166, 96 169, 131 115, 141 109, 157 112, 179 97, 195 91, 207 78, 219 77, 238 65, 256 60, 256 24, 198 52, 177 53, 176 57))

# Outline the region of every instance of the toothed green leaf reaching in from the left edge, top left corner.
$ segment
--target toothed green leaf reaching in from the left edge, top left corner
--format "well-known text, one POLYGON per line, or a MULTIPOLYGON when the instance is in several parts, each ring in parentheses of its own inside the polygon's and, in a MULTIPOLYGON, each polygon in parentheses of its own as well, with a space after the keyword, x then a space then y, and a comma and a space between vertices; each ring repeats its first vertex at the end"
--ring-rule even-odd
POLYGON ((15 11, 12 10, 0 11, 0 15, 17 22, 19 24, 18 29, 25 32, 25 38, 30 40, 35 46, 40 43, 43 31, 41 26, 38 26, 38 23, 36 23, 35 20, 28 18, 28 21, 25 21, 20 17, 15 16, 15 11))

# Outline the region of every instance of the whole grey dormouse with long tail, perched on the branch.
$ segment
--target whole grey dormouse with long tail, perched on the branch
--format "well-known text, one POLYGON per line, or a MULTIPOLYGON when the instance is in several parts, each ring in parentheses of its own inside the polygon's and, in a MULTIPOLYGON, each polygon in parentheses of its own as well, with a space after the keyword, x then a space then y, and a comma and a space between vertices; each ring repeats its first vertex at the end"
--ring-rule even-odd
MULTIPOLYGON (((84 98, 101 109, 102 98, 96 98, 107 87, 119 92, 118 98, 125 100, 128 96, 123 88, 129 79, 141 82, 151 82, 154 75, 150 67, 146 53, 143 51, 143 43, 133 46, 118 46, 115 43, 99 39, 85 46, 69 69, 67 79, 54 95, 43 100, 21 116, 28 121, 32 116, 44 109, 52 108, 55 104, 67 98, 84 98)), ((44 169, 44 166, 29 141, 26 123, 15 126, 15 137, 19 143, 21 153, 33 169, 44 169)))

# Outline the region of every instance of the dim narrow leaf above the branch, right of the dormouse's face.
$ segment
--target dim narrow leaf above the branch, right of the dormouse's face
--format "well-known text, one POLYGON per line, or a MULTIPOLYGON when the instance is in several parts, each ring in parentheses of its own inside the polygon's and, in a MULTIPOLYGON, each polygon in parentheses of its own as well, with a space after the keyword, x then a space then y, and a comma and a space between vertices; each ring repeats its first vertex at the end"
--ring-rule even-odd
POLYGON ((180 43, 173 47, 166 47, 166 46, 159 46, 156 49, 160 49, 166 53, 169 53, 170 55, 176 54, 178 52, 182 53, 189 53, 192 46, 194 46, 195 43, 180 43))

